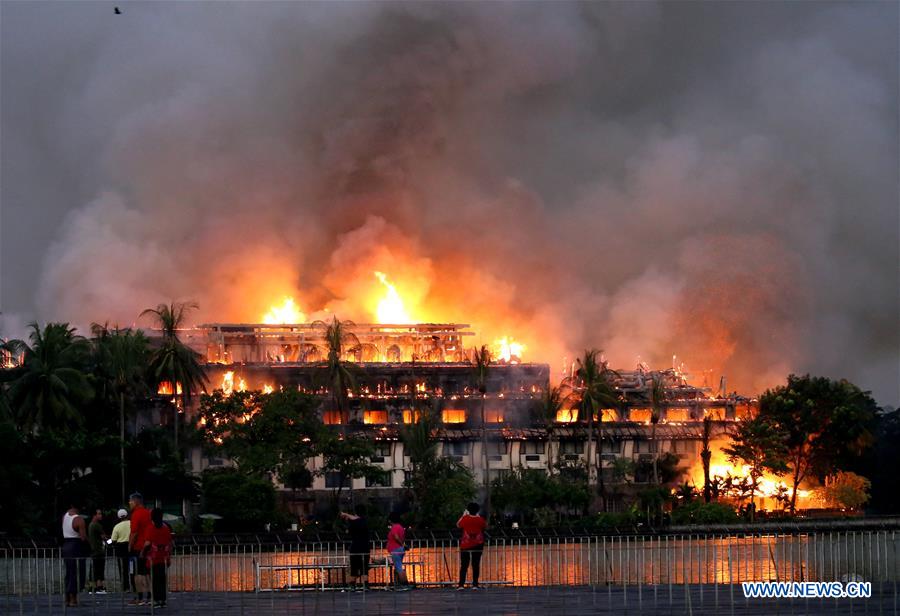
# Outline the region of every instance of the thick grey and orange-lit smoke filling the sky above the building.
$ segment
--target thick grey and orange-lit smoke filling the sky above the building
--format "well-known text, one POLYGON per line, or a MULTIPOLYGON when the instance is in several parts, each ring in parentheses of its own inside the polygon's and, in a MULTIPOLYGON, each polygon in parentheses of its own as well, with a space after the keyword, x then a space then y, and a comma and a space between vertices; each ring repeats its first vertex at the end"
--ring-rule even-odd
POLYGON ((377 269, 557 372, 897 401, 896 3, 2 10, 7 308, 366 321, 377 269))

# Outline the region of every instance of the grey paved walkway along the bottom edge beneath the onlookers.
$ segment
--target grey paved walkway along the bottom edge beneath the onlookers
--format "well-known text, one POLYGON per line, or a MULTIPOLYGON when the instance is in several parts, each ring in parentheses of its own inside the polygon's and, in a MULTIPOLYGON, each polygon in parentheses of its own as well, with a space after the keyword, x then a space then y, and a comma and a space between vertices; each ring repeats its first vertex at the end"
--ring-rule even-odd
POLYGON ((873 597, 856 600, 745 600, 740 588, 719 586, 718 599, 712 586, 675 586, 669 596, 668 586, 647 587, 542 587, 492 588, 482 591, 457 592, 449 589, 422 589, 410 592, 279 592, 279 593, 174 593, 164 610, 151 612, 149 607, 127 607, 122 596, 83 595, 81 606, 64 610, 62 598, 48 602, 33 599, 0 597, 0 614, 353 614, 387 616, 494 614, 898 614, 898 596, 893 588, 881 592, 873 588, 873 597), (717 602, 718 601, 718 602, 717 602))

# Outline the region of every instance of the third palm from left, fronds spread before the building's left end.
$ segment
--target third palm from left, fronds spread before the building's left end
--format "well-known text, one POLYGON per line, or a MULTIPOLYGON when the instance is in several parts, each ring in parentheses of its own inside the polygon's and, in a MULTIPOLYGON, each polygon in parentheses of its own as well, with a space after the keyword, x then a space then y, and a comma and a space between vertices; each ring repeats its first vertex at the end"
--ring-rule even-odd
POLYGON ((168 305, 159 304, 156 308, 148 308, 141 316, 150 315, 156 321, 162 333, 162 344, 150 354, 150 374, 154 384, 163 381, 172 384, 172 413, 175 425, 175 450, 178 451, 178 389, 181 388, 182 405, 187 408, 193 392, 198 389, 206 391, 208 381, 203 367, 202 356, 185 345, 178 338, 178 330, 184 326, 188 310, 197 308, 192 302, 168 305))

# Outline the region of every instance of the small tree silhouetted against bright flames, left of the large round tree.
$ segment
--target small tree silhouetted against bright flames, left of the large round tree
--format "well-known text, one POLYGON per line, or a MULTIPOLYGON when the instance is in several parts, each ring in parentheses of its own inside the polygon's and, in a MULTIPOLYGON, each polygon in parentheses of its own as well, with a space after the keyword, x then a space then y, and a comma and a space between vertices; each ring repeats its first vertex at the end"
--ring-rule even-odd
POLYGON ((780 475, 787 470, 785 433, 763 417, 741 420, 731 436, 731 444, 722 451, 732 464, 749 468, 750 498, 759 488, 759 480, 767 471, 780 475))

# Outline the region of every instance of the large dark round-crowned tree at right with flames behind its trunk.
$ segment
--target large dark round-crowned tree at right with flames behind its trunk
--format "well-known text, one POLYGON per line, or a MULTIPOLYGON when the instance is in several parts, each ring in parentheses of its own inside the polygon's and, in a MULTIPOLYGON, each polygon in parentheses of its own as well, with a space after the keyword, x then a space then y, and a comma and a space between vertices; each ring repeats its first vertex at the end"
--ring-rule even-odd
POLYGON ((760 397, 759 416, 786 435, 791 513, 797 488, 810 474, 824 480, 872 445, 877 410, 868 392, 856 385, 809 375, 792 374, 786 385, 760 397))

